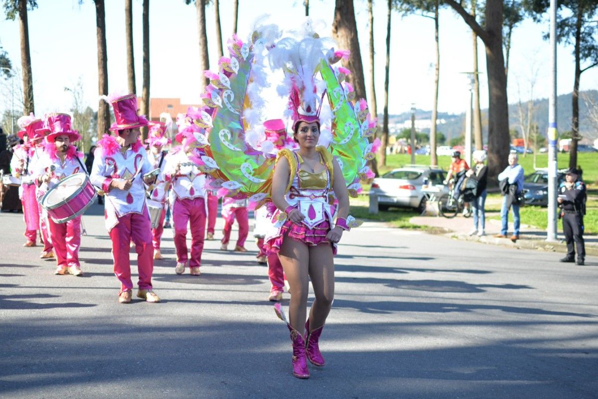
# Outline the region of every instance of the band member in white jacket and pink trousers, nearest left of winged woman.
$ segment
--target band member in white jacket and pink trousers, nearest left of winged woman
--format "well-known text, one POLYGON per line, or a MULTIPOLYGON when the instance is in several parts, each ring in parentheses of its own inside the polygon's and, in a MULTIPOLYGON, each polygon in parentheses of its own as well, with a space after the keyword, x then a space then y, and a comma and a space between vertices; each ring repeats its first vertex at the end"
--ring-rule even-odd
POLYGON ((206 176, 189 158, 193 150, 193 133, 179 125, 175 140, 182 143, 168 155, 166 173, 172 180, 170 198, 174 241, 176 248, 176 274, 183 274, 189 261, 192 275, 199 276, 202 264, 203 241, 206 232, 206 176), (191 229, 191 258, 187 252, 187 224, 191 229))

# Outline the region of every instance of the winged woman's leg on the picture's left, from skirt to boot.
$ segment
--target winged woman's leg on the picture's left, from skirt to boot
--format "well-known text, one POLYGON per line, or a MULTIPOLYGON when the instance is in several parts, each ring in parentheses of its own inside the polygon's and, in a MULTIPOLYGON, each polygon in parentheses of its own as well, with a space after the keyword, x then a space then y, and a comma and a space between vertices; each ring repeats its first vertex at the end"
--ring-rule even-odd
POLYGON ((309 253, 306 244, 289 237, 285 237, 279 251, 280 263, 282 263, 291 292, 289 323, 301 335, 305 330, 304 323, 307 314, 309 253))

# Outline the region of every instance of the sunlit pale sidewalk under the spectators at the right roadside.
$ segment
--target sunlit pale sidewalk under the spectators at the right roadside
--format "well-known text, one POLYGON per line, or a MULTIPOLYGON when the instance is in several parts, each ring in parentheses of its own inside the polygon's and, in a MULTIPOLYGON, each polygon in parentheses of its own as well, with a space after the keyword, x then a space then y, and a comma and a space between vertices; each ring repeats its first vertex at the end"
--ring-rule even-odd
MULTIPOLYGON (((409 222, 414 225, 431 226, 435 228, 442 228, 448 231, 445 233, 447 237, 456 238, 457 240, 478 241, 485 244, 503 245, 513 248, 537 249, 541 251, 555 251, 567 252, 567 245, 565 244, 565 236, 562 232, 562 225, 559 221, 557 229, 557 240, 555 242, 546 241, 546 232, 540 229, 533 228, 521 224, 519 240, 513 243, 508 238, 496 238, 495 234, 501 232, 501 221, 489 219, 492 216, 498 215, 498 212, 486 213, 486 235, 478 237, 477 235, 469 236, 469 232, 473 229, 474 221, 471 217, 463 217, 462 214, 447 219, 442 216, 414 216, 409 222)), ((512 234, 513 225, 509 222, 509 234, 512 234)), ((585 254, 598 256, 598 236, 584 235, 585 254)))

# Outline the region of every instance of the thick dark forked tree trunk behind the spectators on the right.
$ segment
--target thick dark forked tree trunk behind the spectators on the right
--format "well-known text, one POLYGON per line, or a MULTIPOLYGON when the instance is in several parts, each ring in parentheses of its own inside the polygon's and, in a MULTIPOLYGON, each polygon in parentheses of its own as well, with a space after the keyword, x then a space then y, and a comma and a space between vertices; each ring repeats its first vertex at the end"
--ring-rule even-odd
POLYGON ((507 102, 507 75, 502 53, 503 1, 487 0, 483 29, 465 9, 454 0, 444 2, 475 30, 486 46, 488 75, 488 173, 489 182, 496 183, 496 176, 508 164, 509 111, 507 102))

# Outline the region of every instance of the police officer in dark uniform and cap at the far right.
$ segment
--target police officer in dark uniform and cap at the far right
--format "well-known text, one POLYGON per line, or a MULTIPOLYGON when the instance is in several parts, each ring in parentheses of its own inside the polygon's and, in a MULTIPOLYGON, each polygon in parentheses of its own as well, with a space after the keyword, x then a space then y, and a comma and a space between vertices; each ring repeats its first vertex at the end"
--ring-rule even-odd
POLYGON ((569 168, 566 171, 565 182, 559 186, 560 216, 563 219, 563 233, 567 243, 567 256, 561 259, 561 262, 575 262, 575 248, 573 241, 577 246, 576 265, 584 265, 585 247, 584 247, 584 207, 585 207, 585 185, 584 182, 578 182, 579 171, 575 168, 569 168))

